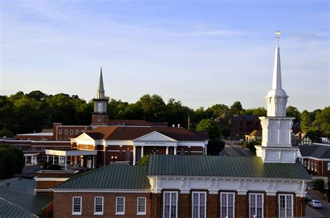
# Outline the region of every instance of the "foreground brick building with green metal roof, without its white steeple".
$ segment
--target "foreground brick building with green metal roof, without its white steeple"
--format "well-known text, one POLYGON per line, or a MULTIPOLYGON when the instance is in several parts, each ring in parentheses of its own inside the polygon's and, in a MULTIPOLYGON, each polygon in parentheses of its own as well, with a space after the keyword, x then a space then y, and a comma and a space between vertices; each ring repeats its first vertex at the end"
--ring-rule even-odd
POLYGON ((299 161, 152 155, 147 166, 109 165, 57 185, 54 217, 302 217, 309 180, 299 161))

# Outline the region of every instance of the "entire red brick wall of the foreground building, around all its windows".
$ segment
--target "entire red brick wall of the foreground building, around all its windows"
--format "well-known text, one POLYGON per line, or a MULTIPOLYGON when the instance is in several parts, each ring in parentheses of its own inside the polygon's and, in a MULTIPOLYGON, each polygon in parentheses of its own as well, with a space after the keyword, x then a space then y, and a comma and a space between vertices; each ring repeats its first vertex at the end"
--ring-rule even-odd
MULTIPOLYGON (((163 190, 164 191, 164 190, 163 190)), ((170 190, 166 190, 170 191, 170 190)), ((175 190, 178 191, 178 190, 175 190)), ((205 191, 205 190, 191 190, 205 191)), ((178 191, 178 217, 191 217, 191 192, 180 194, 178 191)), ((221 192, 221 191, 220 191, 221 192)), ((220 192, 219 194, 207 194, 207 217, 220 216, 220 192)), ((227 192, 224 190, 223 192, 227 192)), ((253 192, 255 193, 255 192, 253 192)), ((292 193, 282 193, 292 194, 292 193)), ((136 217, 137 197, 146 197, 147 215, 141 217, 162 217, 163 215, 163 194, 150 193, 54 193, 54 217, 74 217, 72 213, 72 197, 82 197, 82 215, 93 216, 94 197, 104 196, 104 217, 136 217), (125 216, 116 216, 116 196, 125 197, 125 216)), ((293 194, 294 217, 304 217, 305 199, 296 197, 293 194)), ((267 196, 264 193, 264 216, 278 217, 278 195, 267 196)), ((139 216, 140 217, 140 216, 139 216)), ((249 217, 249 194, 235 194, 235 217, 249 217)))

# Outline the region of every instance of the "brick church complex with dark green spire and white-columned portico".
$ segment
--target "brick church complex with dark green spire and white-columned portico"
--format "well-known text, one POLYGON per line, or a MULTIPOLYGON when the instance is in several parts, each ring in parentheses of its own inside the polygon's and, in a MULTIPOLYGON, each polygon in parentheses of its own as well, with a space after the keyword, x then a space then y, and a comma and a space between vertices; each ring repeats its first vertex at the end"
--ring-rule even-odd
POLYGON ((134 165, 150 153, 207 153, 209 137, 206 132, 168 127, 166 122, 109 119, 102 69, 97 97, 93 101, 91 126, 63 126, 54 123, 49 133, 19 134, 18 140, 1 142, 22 149, 26 164, 36 164, 42 160, 65 164, 65 169, 67 163, 88 168, 118 161, 134 165))

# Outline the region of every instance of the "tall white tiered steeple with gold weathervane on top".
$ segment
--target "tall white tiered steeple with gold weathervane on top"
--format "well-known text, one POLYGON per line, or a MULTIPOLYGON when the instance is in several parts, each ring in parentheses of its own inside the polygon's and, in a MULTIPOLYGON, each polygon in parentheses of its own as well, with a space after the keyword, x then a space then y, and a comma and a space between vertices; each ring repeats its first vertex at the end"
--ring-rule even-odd
MULTIPOLYGON (((278 35, 279 31, 276 32, 278 35)), ((288 94, 282 89, 280 48, 276 44, 272 90, 265 97, 267 117, 259 117, 262 126, 262 144, 256 153, 264 162, 294 163, 298 149, 291 144, 294 117, 286 117, 288 94)))

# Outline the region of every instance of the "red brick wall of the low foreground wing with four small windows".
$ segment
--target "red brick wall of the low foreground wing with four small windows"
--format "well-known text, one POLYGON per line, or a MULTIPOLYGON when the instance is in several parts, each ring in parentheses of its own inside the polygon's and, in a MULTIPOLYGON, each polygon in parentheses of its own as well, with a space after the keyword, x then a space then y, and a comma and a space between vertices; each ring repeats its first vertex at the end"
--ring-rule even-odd
POLYGON ((81 196, 81 216, 92 217, 94 213, 94 197, 104 197, 104 217, 137 217, 137 198, 146 197, 146 215, 150 217, 150 193, 54 193, 54 217, 77 217, 72 215, 72 197, 81 196), (116 215, 116 196, 125 197, 125 215, 116 215))

